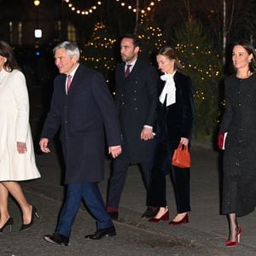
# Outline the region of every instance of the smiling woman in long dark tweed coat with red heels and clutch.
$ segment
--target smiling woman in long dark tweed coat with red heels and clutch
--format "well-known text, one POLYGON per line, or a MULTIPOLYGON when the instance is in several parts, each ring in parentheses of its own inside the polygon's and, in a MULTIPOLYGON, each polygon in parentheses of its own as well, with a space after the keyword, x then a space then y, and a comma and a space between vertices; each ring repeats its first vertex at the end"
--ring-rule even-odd
POLYGON ((233 46, 236 73, 225 80, 225 111, 218 135, 224 150, 222 214, 228 216, 230 236, 226 246, 240 241, 237 216, 256 206, 256 52, 241 41, 233 46), (225 139, 224 139, 225 137, 225 139))

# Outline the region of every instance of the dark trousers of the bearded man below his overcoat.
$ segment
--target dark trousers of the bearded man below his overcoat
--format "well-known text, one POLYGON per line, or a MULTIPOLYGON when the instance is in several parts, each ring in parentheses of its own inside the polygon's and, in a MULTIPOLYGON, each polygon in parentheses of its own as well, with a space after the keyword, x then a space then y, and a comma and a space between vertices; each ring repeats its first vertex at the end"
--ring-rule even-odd
MULTIPOLYGON (((126 178, 130 163, 131 163, 131 160, 129 157, 129 152, 125 147, 123 147, 122 154, 120 154, 118 158, 113 160, 113 172, 108 183, 107 207, 113 207, 116 209, 119 208, 119 201, 125 186, 125 178, 126 178)), ((148 192, 148 187, 150 182, 150 171, 152 167, 152 158, 148 158, 148 160, 143 160, 138 164, 142 169, 143 182, 148 192)))

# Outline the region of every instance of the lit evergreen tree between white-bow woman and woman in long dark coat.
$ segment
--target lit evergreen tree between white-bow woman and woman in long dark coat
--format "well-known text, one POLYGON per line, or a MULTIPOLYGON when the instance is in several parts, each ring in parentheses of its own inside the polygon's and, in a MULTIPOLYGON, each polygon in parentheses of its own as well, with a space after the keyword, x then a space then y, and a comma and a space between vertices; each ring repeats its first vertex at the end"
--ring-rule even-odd
POLYGON ((175 44, 183 72, 195 84, 195 139, 206 142, 212 139, 218 125, 222 61, 196 20, 187 22, 176 32, 175 44))

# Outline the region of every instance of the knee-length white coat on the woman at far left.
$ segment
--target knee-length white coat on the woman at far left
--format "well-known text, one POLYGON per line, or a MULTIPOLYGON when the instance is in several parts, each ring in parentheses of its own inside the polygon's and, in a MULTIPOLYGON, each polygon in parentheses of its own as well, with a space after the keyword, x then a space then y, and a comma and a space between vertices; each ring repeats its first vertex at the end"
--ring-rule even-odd
POLYGON ((21 181, 40 177, 35 163, 29 125, 26 79, 19 70, 0 71, 0 181, 21 181), (19 154, 17 142, 26 143, 19 154))

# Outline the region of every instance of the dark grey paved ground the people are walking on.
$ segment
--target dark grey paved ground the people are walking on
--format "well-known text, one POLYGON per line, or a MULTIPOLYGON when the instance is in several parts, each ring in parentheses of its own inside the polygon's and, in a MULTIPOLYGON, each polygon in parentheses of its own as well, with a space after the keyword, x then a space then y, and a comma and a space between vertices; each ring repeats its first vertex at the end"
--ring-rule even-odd
MULTIPOLYGON (((10 200, 10 212, 15 219, 13 232, 0 234, 0 255, 256 255, 256 212, 240 218, 241 243, 226 248, 227 221, 219 215, 218 152, 194 147, 191 150, 191 207, 189 224, 176 227, 168 222, 148 223, 141 218, 145 210, 145 189, 137 166, 131 166, 120 202, 119 220, 115 221, 118 236, 101 241, 84 240, 94 232, 95 222, 84 206, 73 226, 69 247, 59 247, 43 241, 44 234, 55 229, 63 199, 61 165, 52 154, 37 154, 42 177, 23 183, 28 199, 38 207, 40 219, 31 230, 19 232, 20 212, 10 200)), ((100 184, 106 198, 110 160, 106 160, 106 180, 100 184)), ((167 201, 170 218, 176 214, 172 185, 167 178, 167 201)))

